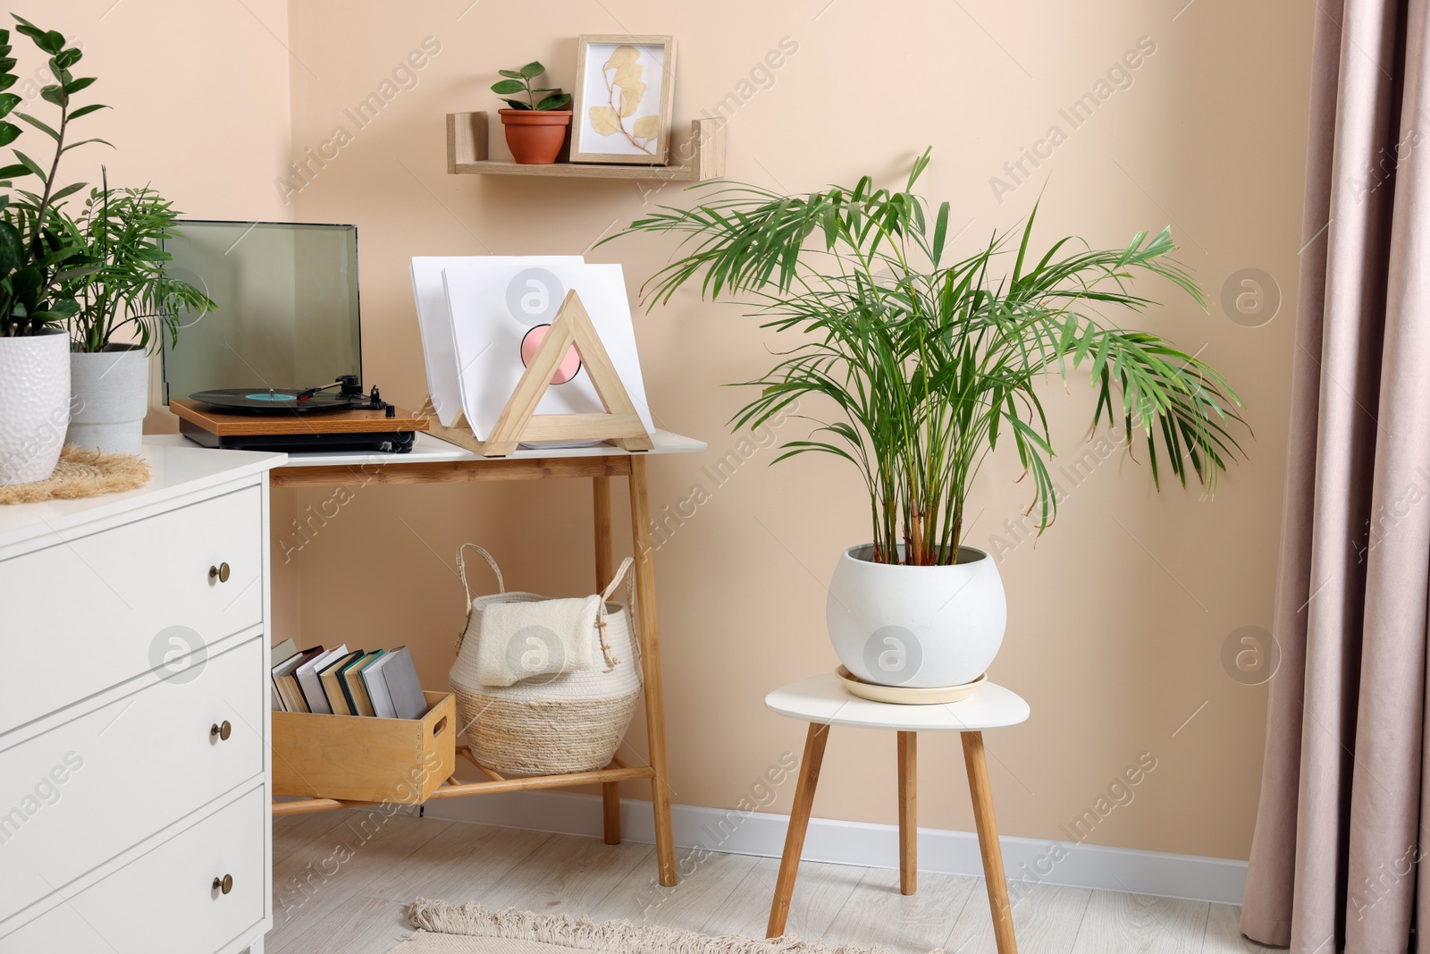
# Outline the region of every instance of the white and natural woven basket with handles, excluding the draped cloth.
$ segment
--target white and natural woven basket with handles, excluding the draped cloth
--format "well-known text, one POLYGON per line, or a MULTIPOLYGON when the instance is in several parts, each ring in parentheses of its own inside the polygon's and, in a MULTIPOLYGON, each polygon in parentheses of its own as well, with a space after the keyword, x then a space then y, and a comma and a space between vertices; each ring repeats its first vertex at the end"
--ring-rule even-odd
MULTIPOLYGON (((456 641, 450 682, 458 719, 466 727, 472 755, 482 765, 512 775, 605 768, 621 747, 641 698, 639 644, 632 634, 629 609, 618 602, 605 602, 605 611, 591 631, 591 658, 596 661, 592 668, 533 677, 509 687, 486 687, 476 677, 482 611, 499 602, 532 602, 546 596, 506 592, 496 561, 475 544, 463 544, 456 552, 456 562, 468 599, 468 622, 456 641), (496 574, 496 594, 472 596, 463 562, 463 552, 469 548, 490 564, 496 574), (601 639, 602 618, 605 645, 601 639)), ((611 595, 625 569, 623 564, 602 596, 611 595)))

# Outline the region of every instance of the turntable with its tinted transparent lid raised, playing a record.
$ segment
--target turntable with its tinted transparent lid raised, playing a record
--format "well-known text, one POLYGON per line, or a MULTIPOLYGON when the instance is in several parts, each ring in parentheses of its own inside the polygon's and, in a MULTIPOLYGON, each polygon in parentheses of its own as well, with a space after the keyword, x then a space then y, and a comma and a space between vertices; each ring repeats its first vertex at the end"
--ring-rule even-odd
POLYGON ((403 453, 428 429, 363 392, 355 226, 183 220, 164 250, 164 272, 217 306, 163 336, 180 433, 236 451, 403 453))

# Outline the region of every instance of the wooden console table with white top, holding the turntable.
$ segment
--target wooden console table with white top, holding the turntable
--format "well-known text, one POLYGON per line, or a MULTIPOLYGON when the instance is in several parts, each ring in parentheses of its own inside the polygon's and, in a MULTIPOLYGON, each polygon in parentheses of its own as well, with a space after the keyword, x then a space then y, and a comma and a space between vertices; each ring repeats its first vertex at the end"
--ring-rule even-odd
MULTIPOLYGON (((184 442, 179 435, 147 438, 149 441, 184 442)), ((596 591, 606 588, 615 572, 611 529, 611 478, 625 476, 631 493, 631 542, 635 554, 635 586, 639 606, 641 664, 645 688, 645 722, 649 738, 649 764, 626 765, 619 758, 611 765, 589 772, 539 775, 532 778, 503 778, 472 758, 470 749, 459 747, 458 754, 476 765, 486 781, 459 782, 456 777, 438 788, 432 798, 462 798, 493 792, 532 791, 539 788, 569 788, 601 784, 606 844, 621 842, 619 782, 651 780, 651 802, 655 808, 655 854, 662 885, 676 882, 675 841, 671 831, 671 787, 665 759, 665 705, 661 687, 661 641, 655 615, 655 564, 651 549, 651 502, 646 486, 646 463, 651 455, 696 453, 705 443, 666 431, 651 435, 651 451, 629 452, 611 445, 533 451, 521 448, 508 458, 483 458, 419 433, 409 453, 306 453, 289 455, 287 465, 270 473, 275 488, 353 486, 385 483, 449 483, 479 481, 548 481, 591 478, 592 509, 595 512, 596 591)), ((335 808, 358 808, 366 802, 332 798, 306 798, 273 802, 275 815, 292 815, 335 808)))

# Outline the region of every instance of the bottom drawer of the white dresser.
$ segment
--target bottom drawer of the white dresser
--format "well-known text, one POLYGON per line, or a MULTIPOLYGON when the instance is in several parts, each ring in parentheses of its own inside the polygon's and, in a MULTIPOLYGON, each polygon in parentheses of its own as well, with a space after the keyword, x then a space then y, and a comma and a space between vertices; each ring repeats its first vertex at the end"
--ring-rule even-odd
POLYGON ((64 904, 0 937, 0 954, 212 954, 263 921, 267 794, 256 788, 64 904), (233 878, 229 894, 213 880, 233 878))

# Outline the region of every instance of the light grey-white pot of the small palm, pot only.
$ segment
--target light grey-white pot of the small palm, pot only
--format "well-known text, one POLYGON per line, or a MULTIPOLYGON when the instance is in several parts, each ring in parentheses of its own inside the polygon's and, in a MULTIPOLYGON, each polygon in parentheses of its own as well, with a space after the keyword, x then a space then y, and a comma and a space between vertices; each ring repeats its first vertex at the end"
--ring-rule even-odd
POLYGON ((110 453, 139 453, 149 413, 149 355, 117 346, 70 355, 74 403, 64 443, 110 453))

